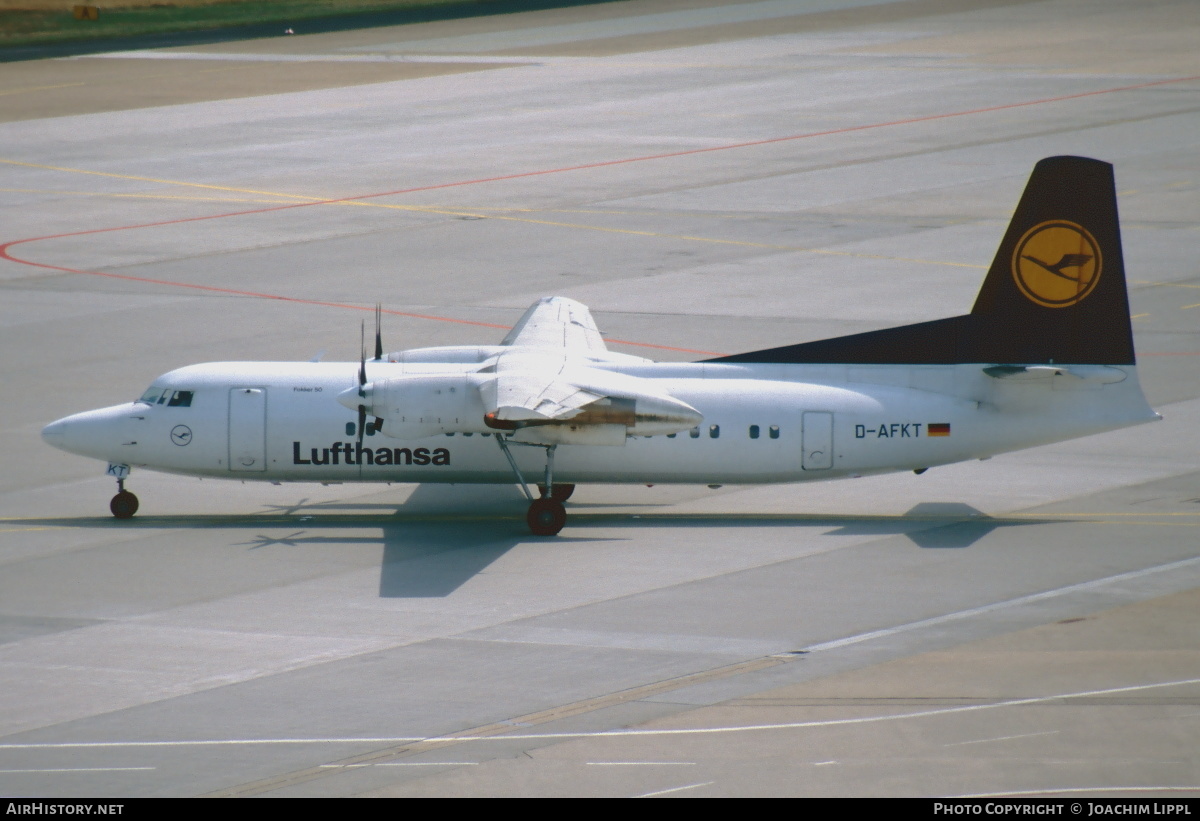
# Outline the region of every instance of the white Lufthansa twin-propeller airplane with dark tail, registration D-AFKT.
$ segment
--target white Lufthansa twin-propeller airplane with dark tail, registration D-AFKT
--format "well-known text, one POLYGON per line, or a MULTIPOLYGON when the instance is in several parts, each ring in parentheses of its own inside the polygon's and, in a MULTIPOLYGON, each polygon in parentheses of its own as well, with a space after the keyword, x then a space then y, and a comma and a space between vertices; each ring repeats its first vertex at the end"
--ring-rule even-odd
POLYGON ((793 483, 984 459, 1158 419, 1142 396, 1112 167, 1033 169, 971 313, 662 364, 535 302, 497 346, 212 362, 42 431, 131 468, 268 481, 516 483, 553 535, 578 483, 793 483), (527 478, 541 484, 535 497, 527 478))

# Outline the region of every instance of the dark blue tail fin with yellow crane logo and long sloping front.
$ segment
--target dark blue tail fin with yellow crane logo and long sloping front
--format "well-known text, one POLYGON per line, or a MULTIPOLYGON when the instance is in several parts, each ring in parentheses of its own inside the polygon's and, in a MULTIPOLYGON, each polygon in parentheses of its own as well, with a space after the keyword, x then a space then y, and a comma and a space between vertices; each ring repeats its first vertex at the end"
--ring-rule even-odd
POLYGON ((708 361, 1133 365, 1112 166, 1034 166, 971 313, 708 361))

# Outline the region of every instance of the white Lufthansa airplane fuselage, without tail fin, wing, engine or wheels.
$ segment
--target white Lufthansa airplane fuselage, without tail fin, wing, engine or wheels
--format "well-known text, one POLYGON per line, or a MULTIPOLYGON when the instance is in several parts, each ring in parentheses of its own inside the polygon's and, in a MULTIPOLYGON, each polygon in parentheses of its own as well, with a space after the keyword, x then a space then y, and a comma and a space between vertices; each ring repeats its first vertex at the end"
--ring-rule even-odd
MULTIPOLYGON (((703 415, 691 431, 558 447, 562 483, 790 483, 946 465, 1157 419, 1133 366, 996 378, 978 365, 613 364, 703 415)), ((474 365, 367 362, 371 380, 474 365)), ((1055 370, 1057 368, 1057 371, 1055 370)), ((67 417, 70 453, 168 473, 266 481, 512 483, 496 435, 397 439, 336 397, 358 362, 211 362, 163 374, 186 406, 132 402, 67 417)), ((386 429, 385 429, 386 430, 386 429)), ((540 448, 512 448, 529 480, 540 448)))

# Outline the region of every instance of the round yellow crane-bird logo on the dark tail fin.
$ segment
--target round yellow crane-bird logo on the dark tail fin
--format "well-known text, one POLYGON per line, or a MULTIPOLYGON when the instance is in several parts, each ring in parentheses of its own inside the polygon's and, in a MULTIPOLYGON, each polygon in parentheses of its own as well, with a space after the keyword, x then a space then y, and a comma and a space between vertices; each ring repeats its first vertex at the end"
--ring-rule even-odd
POLYGON ((1069 307, 1100 281, 1100 246, 1086 228, 1066 220, 1043 222, 1025 232, 1013 252, 1013 278, 1043 307, 1069 307))

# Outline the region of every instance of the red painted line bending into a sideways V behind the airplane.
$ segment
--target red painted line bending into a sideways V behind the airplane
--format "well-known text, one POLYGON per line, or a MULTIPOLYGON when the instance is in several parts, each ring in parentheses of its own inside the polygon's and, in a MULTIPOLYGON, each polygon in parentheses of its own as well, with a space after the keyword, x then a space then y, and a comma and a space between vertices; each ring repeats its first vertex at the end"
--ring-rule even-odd
MULTIPOLYGON (((502 181, 506 181, 506 180, 524 179, 524 178, 530 178, 530 176, 545 176, 547 174, 563 174, 563 173, 566 173, 566 172, 589 170, 589 169, 595 169, 595 168, 607 168, 607 167, 611 167, 611 166, 622 166, 622 164, 629 164, 629 163, 635 163, 635 162, 648 162, 648 161, 652 161, 652 160, 668 160, 668 158, 673 158, 673 157, 685 157, 685 156, 691 156, 691 155, 697 155, 697 154, 708 154, 708 152, 713 152, 713 151, 728 151, 728 150, 732 150, 732 149, 754 148, 754 146, 758 146, 758 145, 770 145, 770 144, 774 144, 774 143, 786 143, 786 142, 793 142, 793 140, 798 140, 798 139, 811 139, 811 138, 816 138, 816 137, 832 137, 832 136, 836 136, 836 134, 853 133, 856 131, 870 131, 870 130, 875 130, 875 128, 888 128, 888 127, 893 127, 893 126, 913 125, 913 124, 917 124, 917 122, 930 122, 930 121, 934 121, 934 120, 944 120, 944 119, 955 118, 955 116, 970 116, 970 115, 973 115, 973 114, 986 114, 986 113, 991 113, 991 112, 1002 112, 1002 110, 1008 110, 1008 109, 1013 109, 1013 108, 1024 108, 1024 107, 1028 107, 1028 106, 1043 106, 1043 104, 1046 104, 1046 103, 1064 102, 1064 101, 1068 101, 1068 100, 1080 100, 1082 97, 1092 97, 1092 96, 1103 95, 1103 94, 1115 94, 1115 92, 1118 92, 1118 91, 1134 91, 1134 90, 1138 90, 1138 89, 1147 89, 1147 88, 1153 88, 1153 86, 1158 86, 1158 85, 1169 85, 1169 84, 1174 84, 1174 83, 1187 83, 1187 82, 1198 80, 1198 79, 1200 79, 1200 74, 1192 76, 1192 77, 1176 77, 1176 78, 1164 79, 1164 80, 1152 80, 1152 82, 1147 82, 1147 83, 1136 83, 1134 85, 1121 85, 1121 86, 1114 86, 1114 88, 1110 88, 1110 89, 1099 89, 1099 90, 1096 90, 1096 91, 1081 91, 1081 92, 1078 92, 1078 94, 1068 94, 1068 95, 1061 95, 1061 96, 1056 96, 1056 97, 1043 97, 1043 98, 1039 98, 1039 100, 1027 100, 1027 101, 1024 101, 1024 102, 1004 103, 1004 104, 1001 104, 1001 106, 986 106, 984 108, 972 108, 972 109, 966 109, 966 110, 961 110, 961 112, 949 112, 949 113, 944 113, 944 114, 929 114, 929 115, 925 115, 925 116, 914 116, 914 118, 907 118, 907 119, 904 119, 904 120, 889 120, 889 121, 886 121, 886 122, 871 122, 871 124, 858 125, 858 126, 847 126, 847 127, 844 127, 844 128, 830 128, 830 130, 827 130, 827 131, 812 131, 812 132, 806 132, 806 133, 802 133, 802 134, 788 134, 786 137, 772 137, 772 138, 768 138, 768 139, 756 139, 756 140, 748 140, 748 142, 742 142, 742 143, 728 143, 728 144, 725 144, 725 145, 713 145, 713 146, 709 146, 709 148, 686 149, 686 150, 683 150, 683 151, 667 151, 667 152, 664 152, 664 154, 649 154, 649 155, 643 155, 643 156, 637 156, 637 157, 625 157, 625 158, 622 158, 622 160, 606 160, 606 161, 602 161, 602 162, 590 162, 590 163, 583 163, 583 164, 578 164, 578 166, 564 166, 562 168, 548 168, 548 169, 541 169, 541 170, 520 172, 520 173, 516 173, 516 174, 504 174, 504 175, 500 175, 500 176, 487 176, 487 178, 479 178, 479 179, 473 179, 473 180, 458 180, 458 181, 455 181, 455 182, 440 182, 440 184, 436 184, 436 185, 415 186, 415 187, 410 187, 410 188, 397 188, 395 191, 383 191, 383 192, 377 192, 377 193, 358 194, 358 196, 353 196, 353 197, 340 197, 340 198, 334 198, 334 199, 319 199, 319 200, 311 200, 311 202, 304 202, 304 203, 288 203, 288 204, 284 204, 284 205, 272 205, 272 206, 268 206, 268 208, 257 208, 257 209, 250 209, 250 210, 245 210, 245 211, 230 211, 230 212, 227 212, 227 214, 210 214, 210 215, 206 215, 206 216, 184 217, 184 218, 180 218, 180 220, 164 220, 162 222, 148 222, 148 223, 134 224, 134 226, 118 226, 118 227, 112 227, 112 228, 92 228, 92 229, 89 229, 89 230, 78 230, 78 232, 70 232, 70 233, 62 233, 62 234, 49 234, 49 235, 46 235, 46 236, 31 236, 31 238, 26 238, 26 239, 10 240, 8 242, 5 242, 5 244, 0 245, 0 258, 7 259, 10 262, 19 263, 19 264, 23 264, 23 265, 34 265, 34 266, 37 266, 37 268, 46 268, 46 269, 64 271, 64 272, 68 272, 68 274, 82 274, 82 275, 88 275, 88 276, 107 276, 107 277, 110 277, 110 278, 127 280, 127 281, 132 281, 132 282, 145 282, 145 283, 151 283, 151 284, 162 284, 162 286, 170 286, 170 287, 176 287, 176 288, 191 288, 191 289, 194 289, 194 290, 205 290, 205 292, 210 292, 210 293, 222 293, 222 294, 229 294, 229 295, 236 295, 236 296, 251 296, 251 298, 256 298, 256 299, 275 299, 275 300, 289 301, 289 302, 298 302, 298 304, 304 304, 304 305, 319 305, 319 306, 324 306, 324 307, 342 307, 342 308, 350 308, 350 310, 355 310, 355 311, 366 311, 366 310, 373 310, 373 308, 366 307, 366 306, 361 306, 361 305, 350 305, 350 304, 346 304, 346 302, 329 302, 329 301, 322 301, 322 300, 310 300, 310 299, 300 299, 300 298, 294 298, 294 296, 283 296, 283 295, 280 295, 280 294, 265 294, 265 293, 257 293, 257 292, 251 292, 251 290, 238 290, 238 289, 233 289, 233 288, 218 288, 218 287, 215 287, 215 286, 202 286, 202 284, 187 283, 187 282, 172 282, 172 281, 168 281, 168 280, 154 280, 154 278, 148 278, 148 277, 130 276, 130 275, 125 275, 125 274, 108 274, 108 272, 103 272, 103 271, 88 271, 88 270, 79 270, 79 269, 73 269, 73 268, 62 268, 62 266, 59 266, 59 265, 49 265, 49 264, 44 264, 44 263, 32 262, 30 259, 22 259, 20 257, 13 256, 10 252, 10 248, 12 248, 16 245, 23 245, 23 244, 26 244, 26 242, 38 242, 38 241, 42 241, 42 240, 50 240, 50 239, 64 239, 64 238, 67 238, 67 236, 85 236, 85 235, 89 235, 89 234, 102 234, 102 233, 108 233, 108 232, 114 232, 114 230, 133 230, 136 228, 154 228, 154 227, 162 227, 162 226, 180 224, 180 223, 185 223, 185 222, 200 222, 200 221, 204 221, 204 220, 223 220, 226 217, 248 216, 248 215, 253 215, 253 214, 268 214, 268 212, 271 212, 271 211, 284 211, 284 210, 289 210, 289 209, 294 209, 294 208, 310 208, 310 206, 313 206, 313 205, 334 205, 334 204, 338 204, 338 203, 349 203, 349 202, 358 202, 358 200, 364 200, 364 199, 377 199, 377 198, 380 198, 380 197, 394 197, 394 196, 398 196, 398 194, 418 193, 418 192, 422 192, 422 191, 438 191, 438 190, 454 188, 454 187, 461 187, 461 186, 468 186, 468 185, 482 185, 485 182, 502 182, 502 181)), ((474 320, 469 320, 469 319, 454 319, 451 317, 437 317, 437 316, 427 316, 427 314, 418 314, 418 313, 406 313, 403 311, 386 311, 386 313, 395 314, 395 316, 404 316, 404 317, 420 318, 420 319, 432 319, 432 320, 438 320, 438 322, 454 322, 454 323, 460 323, 460 324, 464 324, 464 325, 480 325, 480 326, 485 326, 485 328, 505 328, 504 325, 496 325, 496 324, 485 323, 485 322, 474 322, 474 320)), ((630 341, 622 341, 622 340, 610 340, 610 342, 613 342, 613 343, 617 343, 617 344, 631 344, 631 346, 647 347, 647 348, 659 348, 659 349, 664 349, 664 350, 677 350, 677 352, 682 352, 682 353, 694 353, 694 354, 700 354, 700 355, 720 355, 720 354, 716 354, 716 353, 709 352, 709 350, 692 350, 692 349, 689 349, 689 348, 674 348, 674 347, 671 347, 671 346, 650 344, 650 343, 647 343, 647 342, 630 342, 630 341)), ((1154 354, 1144 354, 1144 355, 1154 355, 1154 354)))

